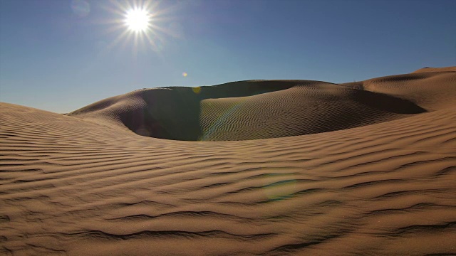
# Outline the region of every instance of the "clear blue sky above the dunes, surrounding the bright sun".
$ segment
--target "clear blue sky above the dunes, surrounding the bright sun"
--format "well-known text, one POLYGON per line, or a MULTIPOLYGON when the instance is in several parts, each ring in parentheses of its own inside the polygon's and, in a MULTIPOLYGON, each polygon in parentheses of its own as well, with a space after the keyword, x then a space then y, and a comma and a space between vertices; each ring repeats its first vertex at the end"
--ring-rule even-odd
POLYGON ((0 101, 64 113, 145 87, 454 66, 455 14, 454 0, 0 0, 0 101), (132 6, 147 31, 128 29, 132 6))

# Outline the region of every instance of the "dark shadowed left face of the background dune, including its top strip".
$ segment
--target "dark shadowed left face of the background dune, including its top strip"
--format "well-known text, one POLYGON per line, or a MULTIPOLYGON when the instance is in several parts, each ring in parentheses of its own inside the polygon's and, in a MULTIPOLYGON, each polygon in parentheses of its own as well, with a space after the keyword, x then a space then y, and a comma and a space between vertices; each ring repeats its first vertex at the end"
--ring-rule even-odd
POLYGON ((138 90, 95 102, 69 115, 95 119, 95 122, 102 119, 146 137, 197 141, 202 134, 199 123, 202 100, 257 95, 284 90, 295 84, 294 81, 244 81, 198 87, 197 90, 191 87, 138 90))

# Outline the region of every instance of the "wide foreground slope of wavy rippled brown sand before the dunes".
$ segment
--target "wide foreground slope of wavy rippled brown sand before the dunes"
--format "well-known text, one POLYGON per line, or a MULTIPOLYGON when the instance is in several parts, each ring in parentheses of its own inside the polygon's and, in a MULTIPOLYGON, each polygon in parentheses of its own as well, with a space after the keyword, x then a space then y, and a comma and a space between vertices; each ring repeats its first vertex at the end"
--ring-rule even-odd
MULTIPOLYGON (((306 93, 290 88, 256 99, 306 93)), ((454 107, 233 142, 141 137, 4 103, 0 120, 4 255, 456 253, 454 107)))

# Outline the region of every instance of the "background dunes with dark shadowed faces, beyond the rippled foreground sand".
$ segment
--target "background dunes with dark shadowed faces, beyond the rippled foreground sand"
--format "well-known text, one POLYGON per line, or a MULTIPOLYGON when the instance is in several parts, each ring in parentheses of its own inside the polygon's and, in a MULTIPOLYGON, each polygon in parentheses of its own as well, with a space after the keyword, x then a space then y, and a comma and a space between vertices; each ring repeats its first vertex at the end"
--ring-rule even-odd
POLYGON ((112 97, 69 115, 95 122, 103 119, 136 134, 160 139, 290 137, 376 124, 438 109, 439 103, 423 98, 436 85, 449 90, 446 87, 451 87, 454 79, 455 73, 419 73, 357 85, 258 80, 196 89, 167 87, 112 97), (390 86, 399 88, 388 90, 390 86))

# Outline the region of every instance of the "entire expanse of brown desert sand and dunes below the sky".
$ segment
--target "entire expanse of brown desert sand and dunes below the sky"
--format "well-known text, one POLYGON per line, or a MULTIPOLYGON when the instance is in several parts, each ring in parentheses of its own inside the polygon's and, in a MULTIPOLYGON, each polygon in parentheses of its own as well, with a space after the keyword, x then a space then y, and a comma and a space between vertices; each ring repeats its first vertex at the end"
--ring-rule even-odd
POLYGON ((0 255, 455 255, 456 67, 0 104, 0 255))

